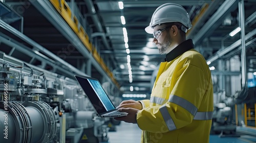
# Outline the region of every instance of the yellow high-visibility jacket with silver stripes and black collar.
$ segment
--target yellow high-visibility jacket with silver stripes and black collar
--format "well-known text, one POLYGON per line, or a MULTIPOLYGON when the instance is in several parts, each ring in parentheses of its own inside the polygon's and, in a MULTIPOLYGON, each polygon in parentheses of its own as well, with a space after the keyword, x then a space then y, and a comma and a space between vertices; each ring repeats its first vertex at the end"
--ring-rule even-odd
POLYGON ((143 143, 209 142, 214 110, 211 73, 191 39, 166 55, 150 100, 137 113, 143 143))

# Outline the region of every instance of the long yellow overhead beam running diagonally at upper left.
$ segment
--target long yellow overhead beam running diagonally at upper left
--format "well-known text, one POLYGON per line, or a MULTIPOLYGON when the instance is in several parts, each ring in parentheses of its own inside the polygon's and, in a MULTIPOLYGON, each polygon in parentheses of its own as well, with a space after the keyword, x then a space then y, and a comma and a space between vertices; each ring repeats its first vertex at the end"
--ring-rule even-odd
POLYGON ((84 28, 79 25, 77 17, 75 15, 73 15, 72 17, 72 11, 67 2, 65 0, 50 0, 50 2, 56 8, 59 14, 63 17, 63 19, 65 19, 65 21, 68 23, 71 29, 76 33, 76 35, 82 41, 84 46, 87 47, 88 51, 92 53, 93 57, 100 64, 102 69, 108 74, 111 80, 119 88, 120 86, 114 78, 113 74, 111 73, 110 69, 105 65, 103 59, 99 56, 96 48, 94 47, 92 42, 90 42, 90 37, 88 36, 84 28))

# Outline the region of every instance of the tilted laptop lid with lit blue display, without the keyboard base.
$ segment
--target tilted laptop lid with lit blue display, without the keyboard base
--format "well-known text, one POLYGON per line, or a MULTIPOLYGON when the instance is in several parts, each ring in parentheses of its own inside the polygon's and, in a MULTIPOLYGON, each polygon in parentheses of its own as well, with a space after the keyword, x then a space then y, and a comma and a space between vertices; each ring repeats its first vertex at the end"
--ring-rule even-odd
POLYGON ((75 76, 98 114, 115 109, 98 80, 75 76))

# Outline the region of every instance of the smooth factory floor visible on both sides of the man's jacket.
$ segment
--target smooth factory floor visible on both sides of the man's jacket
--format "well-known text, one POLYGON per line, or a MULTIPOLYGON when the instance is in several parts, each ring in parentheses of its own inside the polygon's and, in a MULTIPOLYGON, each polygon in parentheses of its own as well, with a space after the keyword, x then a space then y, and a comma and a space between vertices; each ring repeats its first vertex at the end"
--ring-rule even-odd
MULTIPOLYGON (((238 133, 240 137, 220 137, 210 135, 210 143, 256 143, 256 136, 238 133)), ((116 131, 109 132, 110 143, 140 143, 141 130, 137 124, 121 122, 116 126, 116 131)))

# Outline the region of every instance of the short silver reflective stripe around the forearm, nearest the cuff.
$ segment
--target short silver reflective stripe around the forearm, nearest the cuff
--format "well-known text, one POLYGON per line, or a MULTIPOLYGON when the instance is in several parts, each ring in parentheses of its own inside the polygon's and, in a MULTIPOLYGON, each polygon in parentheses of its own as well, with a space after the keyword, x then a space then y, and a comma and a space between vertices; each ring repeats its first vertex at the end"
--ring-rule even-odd
POLYGON ((159 108, 162 116, 163 116, 163 120, 168 128, 169 131, 172 131, 172 130, 175 130, 176 129, 176 126, 174 124, 174 121, 172 119, 172 117, 170 116, 168 110, 167 110, 167 107, 166 105, 162 105, 160 108, 159 108))

